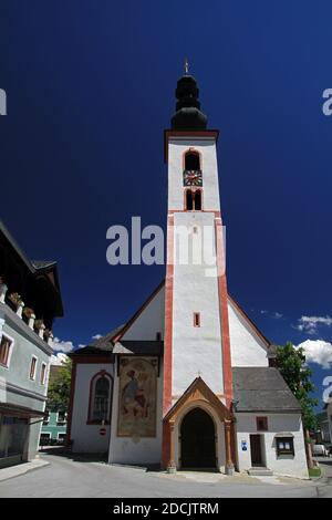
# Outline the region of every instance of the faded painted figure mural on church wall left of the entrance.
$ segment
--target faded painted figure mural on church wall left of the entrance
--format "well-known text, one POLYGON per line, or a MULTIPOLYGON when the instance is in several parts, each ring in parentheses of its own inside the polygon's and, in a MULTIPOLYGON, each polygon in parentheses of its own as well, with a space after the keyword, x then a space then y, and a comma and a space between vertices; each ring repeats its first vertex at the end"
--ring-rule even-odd
POLYGON ((117 435, 154 437, 158 360, 124 356, 120 363, 117 435))

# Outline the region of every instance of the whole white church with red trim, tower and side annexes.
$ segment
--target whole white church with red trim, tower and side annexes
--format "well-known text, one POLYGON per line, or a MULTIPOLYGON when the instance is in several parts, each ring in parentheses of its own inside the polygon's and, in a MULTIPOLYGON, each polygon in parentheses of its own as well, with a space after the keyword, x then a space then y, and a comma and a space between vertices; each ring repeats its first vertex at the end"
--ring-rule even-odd
POLYGON ((218 131, 187 66, 176 98, 165 280, 125 325, 70 355, 68 443, 110 464, 307 478, 300 404, 228 293, 218 131))

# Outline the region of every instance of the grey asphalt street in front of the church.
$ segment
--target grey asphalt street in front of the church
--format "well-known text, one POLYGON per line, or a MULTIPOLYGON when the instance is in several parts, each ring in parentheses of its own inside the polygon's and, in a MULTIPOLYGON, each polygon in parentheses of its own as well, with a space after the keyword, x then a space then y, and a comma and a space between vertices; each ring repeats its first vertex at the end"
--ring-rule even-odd
MULTIPOLYGON (((332 486, 321 481, 226 477, 219 474, 178 472, 175 476, 139 468, 108 466, 42 455, 50 462, 25 475, 0 482, 1 498, 234 498, 332 497, 332 486)), ((326 465, 332 469, 332 466, 326 465)))

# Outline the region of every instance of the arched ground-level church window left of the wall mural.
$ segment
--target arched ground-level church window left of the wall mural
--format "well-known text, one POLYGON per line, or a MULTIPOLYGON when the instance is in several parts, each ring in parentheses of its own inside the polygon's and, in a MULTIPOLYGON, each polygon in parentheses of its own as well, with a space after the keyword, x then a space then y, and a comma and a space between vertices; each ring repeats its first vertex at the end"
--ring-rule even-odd
POLYGON ((113 378, 101 371, 93 376, 90 384, 89 417, 90 424, 110 424, 113 394, 113 378))

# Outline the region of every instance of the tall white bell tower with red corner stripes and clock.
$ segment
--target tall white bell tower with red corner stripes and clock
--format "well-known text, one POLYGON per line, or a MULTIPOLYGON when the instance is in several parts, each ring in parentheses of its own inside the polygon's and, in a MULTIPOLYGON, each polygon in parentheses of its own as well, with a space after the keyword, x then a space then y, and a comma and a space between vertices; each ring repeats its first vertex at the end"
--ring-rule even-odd
POLYGON ((231 361, 220 214, 217 139, 200 111, 196 80, 185 73, 165 131, 168 166, 164 416, 201 377, 227 406, 231 361))

